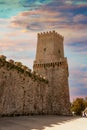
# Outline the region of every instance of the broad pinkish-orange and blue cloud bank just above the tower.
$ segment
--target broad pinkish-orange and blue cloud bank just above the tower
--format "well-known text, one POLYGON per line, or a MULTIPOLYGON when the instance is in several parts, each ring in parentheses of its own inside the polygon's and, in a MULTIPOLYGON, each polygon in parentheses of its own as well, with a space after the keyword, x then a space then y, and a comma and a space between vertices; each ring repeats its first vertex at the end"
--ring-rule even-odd
POLYGON ((11 21, 12 27, 24 27, 28 30, 40 31, 43 29, 87 29, 87 6, 66 5, 62 1, 53 1, 19 13, 11 21))

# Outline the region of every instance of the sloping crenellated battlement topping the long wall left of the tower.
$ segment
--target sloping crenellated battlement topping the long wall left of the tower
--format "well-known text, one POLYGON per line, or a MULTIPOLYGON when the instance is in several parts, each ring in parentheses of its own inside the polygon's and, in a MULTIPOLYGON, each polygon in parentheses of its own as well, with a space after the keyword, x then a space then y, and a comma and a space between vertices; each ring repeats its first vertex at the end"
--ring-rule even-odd
POLYGON ((15 62, 14 60, 6 60, 6 56, 0 55, 0 69, 6 68, 7 70, 16 70, 18 73, 24 74, 25 76, 29 76, 32 79, 39 80, 45 83, 48 83, 48 80, 44 78, 42 75, 39 75, 35 71, 32 71, 27 66, 23 65, 21 62, 15 62))

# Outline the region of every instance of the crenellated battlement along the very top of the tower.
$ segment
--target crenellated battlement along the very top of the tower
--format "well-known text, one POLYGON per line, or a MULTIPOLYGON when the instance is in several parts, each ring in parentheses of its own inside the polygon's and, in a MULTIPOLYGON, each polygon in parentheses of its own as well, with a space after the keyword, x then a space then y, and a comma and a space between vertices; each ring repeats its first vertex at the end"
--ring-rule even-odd
POLYGON ((60 35, 59 33, 55 32, 54 30, 53 31, 49 31, 49 32, 41 32, 41 33, 38 33, 38 38, 45 38, 45 37, 49 37, 49 36, 53 36, 53 37, 57 37, 57 38, 61 38, 61 39, 64 39, 64 37, 62 35, 60 35))

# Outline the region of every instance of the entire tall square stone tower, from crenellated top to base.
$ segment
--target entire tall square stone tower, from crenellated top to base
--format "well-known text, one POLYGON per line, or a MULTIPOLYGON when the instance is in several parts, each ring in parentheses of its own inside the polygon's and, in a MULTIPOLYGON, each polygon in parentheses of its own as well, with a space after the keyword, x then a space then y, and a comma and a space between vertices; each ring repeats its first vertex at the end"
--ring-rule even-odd
POLYGON ((47 113, 70 113, 68 64, 64 57, 63 36, 55 31, 38 34, 33 70, 49 81, 47 113))

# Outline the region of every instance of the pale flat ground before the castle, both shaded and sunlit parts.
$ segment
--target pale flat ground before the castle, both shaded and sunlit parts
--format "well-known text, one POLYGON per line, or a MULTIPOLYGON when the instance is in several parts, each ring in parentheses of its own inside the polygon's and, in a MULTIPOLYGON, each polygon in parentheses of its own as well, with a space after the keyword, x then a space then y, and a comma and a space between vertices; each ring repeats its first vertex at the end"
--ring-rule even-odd
POLYGON ((87 130, 87 118, 23 116, 0 118, 0 130, 87 130))

